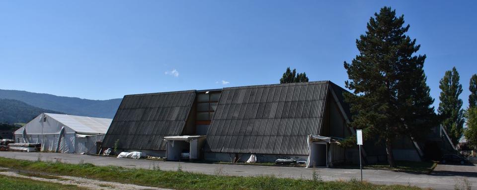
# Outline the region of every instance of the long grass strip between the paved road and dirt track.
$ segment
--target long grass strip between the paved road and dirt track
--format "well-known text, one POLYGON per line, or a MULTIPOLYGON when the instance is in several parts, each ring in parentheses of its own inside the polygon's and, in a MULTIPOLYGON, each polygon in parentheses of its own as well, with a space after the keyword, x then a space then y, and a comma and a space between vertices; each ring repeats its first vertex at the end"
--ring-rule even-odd
POLYGON ((314 180, 282 179, 273 176, 235 177, 205 175, 190 172, 130 169, 92 164, 26 161, 0 158, 0 167, 44 172, 56 175, 87 177, 102 181, 129 183, 176 190, 418 190, 408 186, 382 186, 357 180, 323 182, 318 174, 314 180))

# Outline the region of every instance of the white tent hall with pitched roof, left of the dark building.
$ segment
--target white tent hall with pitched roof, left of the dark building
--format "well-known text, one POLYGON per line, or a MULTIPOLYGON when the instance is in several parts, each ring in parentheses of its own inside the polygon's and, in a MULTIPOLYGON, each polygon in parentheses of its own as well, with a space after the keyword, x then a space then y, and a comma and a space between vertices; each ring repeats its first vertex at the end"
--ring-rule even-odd
POLYGON ((41 143, 41 151, 96 153, 112 119, 42 113, 14 133, 15 142, 41 143))

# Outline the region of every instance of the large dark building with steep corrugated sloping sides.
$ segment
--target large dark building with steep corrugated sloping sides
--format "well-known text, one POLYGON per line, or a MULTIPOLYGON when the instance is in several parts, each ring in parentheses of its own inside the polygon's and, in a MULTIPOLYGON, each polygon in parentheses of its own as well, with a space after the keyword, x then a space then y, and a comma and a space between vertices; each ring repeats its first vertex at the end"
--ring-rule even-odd
MULTIPOLYGON (((116 144, 168 160, 187 152, 190 159, 211 161, 243 162, 254 154, 259 162, 356 163, 358 149, 339 146, 355 133, 347 125, 351 114, 343 93, 330 81, 316 81, 125 95, 102 147, 116 144)), ((385 161, 384 148, 366 143, 365 158, 385 161)), ((421 160, 410 138, 395 144, 398 159, 421 160)))

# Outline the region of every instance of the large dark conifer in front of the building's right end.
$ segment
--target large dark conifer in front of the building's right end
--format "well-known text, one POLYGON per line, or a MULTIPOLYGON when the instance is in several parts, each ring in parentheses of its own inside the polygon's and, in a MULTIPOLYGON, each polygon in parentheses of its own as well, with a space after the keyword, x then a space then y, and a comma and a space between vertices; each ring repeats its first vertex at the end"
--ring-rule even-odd
POLYGON ((378 137, 385 144, 388 162, 396 167, 392 142, 401 135, 417 138, 432 120, 433 99, 429 95, 423 65, 425 55, 416 40, 405 35, 409 25, 396 10, 383 7, 367 25, 368 31, 356 40, 360 51, 351 62, 344 62, 349 81, 344 94, 353 113, 351 126, 363 129, 364 138, 378 137))

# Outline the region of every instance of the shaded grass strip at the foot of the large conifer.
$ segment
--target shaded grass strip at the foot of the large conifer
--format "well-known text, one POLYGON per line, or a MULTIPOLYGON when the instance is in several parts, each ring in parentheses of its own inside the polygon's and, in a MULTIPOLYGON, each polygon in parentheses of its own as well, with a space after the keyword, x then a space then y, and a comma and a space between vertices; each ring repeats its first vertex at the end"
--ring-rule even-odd
MULTIPOLYGON (((381 169, 381 170, 393 170, 398 172, 413 172, 413 173, 422 173, 429 174, 437 166, 435 162, 411 162, 411 161, 397 161, 397 167, 389 167, 389 164, 378 163, 373 165, 364 166, 363 169, 381 169)), ((337 168, 349 168, 349 169, 359 169, 359 165, 343 165, 338 166, 337 168)))

